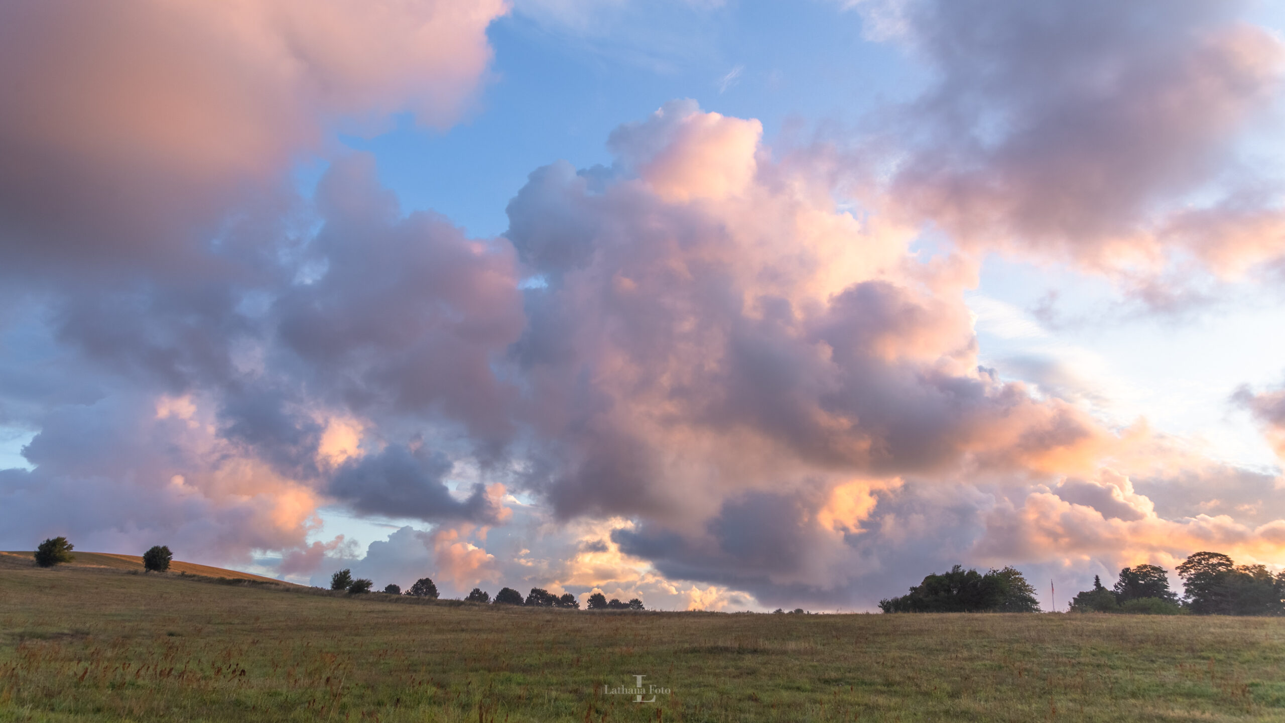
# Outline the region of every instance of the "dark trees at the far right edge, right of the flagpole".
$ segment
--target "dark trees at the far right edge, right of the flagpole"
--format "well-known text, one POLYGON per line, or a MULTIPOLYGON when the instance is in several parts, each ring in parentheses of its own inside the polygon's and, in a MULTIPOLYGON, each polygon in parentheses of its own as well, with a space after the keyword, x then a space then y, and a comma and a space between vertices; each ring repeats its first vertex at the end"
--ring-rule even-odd
POLYGON ((1169 571, 1156 565, 1121 570, 1112 589, 1094 576, 1094 589, 1070 602, 1082 612, 1191 612, 1195 615, 1285 615, 1285 571, 1236 565, 1219 552, 1198 552, 1177 567, 1183 597, 1169 589, 1169 571))

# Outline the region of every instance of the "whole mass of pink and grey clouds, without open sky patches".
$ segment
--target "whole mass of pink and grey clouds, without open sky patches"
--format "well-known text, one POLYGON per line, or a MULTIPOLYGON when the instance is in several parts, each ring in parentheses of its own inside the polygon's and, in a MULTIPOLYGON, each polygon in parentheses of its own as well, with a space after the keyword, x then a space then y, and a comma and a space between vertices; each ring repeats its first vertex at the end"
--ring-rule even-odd
MULTIPOLYGON (((758 121, 676 100, 612 134, 612 167, 535 170, 496 239, 403 214, 361 154, 311 199, 287 172, 343 124, 459 117, 499 3, 139 1, 102 36, 93 12, 6 6, 0 80, 39 66, 58 93, 0 112, 22 152, 0 172, 0 422, 39 430, 33 470, 0 472, 5 544, 698 607, 869 606, 960 560, 1279 561, 1271 476, 982 368, 964 292, 991 251, 1126 283, 1178 253, 1267 269, 1280 239, 1156 229, 1230 165, 1280 41, 1198 0, 1160 27, 966 5, 888 21, 942 69, 898 111, 917 121, 891 172, 887 139, 774 152, 758 121), (84 36, 105 64, 57 54, 84 36), (139 82, 104 98, 98 73, 139 82), (180 96, 209 112, 163 112, 180 96), (71 125, 40 122, 63 105, 71 125), (939 253, 912 251, 925 224, 939 253), (351 561, 314 539, 323 506, 420 527, 351 561)), ((1239 399, 1279 425, 1271 394, 1239 399)))

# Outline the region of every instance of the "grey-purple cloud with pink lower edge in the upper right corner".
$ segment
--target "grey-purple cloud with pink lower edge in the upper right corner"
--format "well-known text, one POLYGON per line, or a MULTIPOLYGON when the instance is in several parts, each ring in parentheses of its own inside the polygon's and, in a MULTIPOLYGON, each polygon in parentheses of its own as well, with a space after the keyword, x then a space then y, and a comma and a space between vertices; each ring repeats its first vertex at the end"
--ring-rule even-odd
POLYGON ((887 192, 956 243, 1145 275, 1174 255, 1225 275, 1285 251, 1279 210, 1239 190, 1267 180, 1236 143, 1285 71, 1245 3, 860 8, 935 73, 896 114, 887 192))

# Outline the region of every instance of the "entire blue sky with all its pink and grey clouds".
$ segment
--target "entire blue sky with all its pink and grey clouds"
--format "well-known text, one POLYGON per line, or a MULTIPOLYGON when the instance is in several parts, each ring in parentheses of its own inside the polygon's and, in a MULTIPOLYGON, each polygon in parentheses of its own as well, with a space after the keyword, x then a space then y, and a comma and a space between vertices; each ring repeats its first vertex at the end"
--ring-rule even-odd
POLYGON ((1281 569, 1282 32, 4 4, 0 547, 666 610, 1281 569))

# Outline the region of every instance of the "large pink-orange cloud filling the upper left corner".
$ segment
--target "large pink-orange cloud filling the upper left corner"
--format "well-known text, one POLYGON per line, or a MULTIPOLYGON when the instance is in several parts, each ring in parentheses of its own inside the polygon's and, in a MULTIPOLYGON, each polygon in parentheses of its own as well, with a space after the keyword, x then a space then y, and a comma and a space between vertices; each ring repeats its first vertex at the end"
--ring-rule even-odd
MULTIPOLYGON (((66 0, 0 9, 0 247, 42 274, 189 270, 229 211, 393 112, 445 127, 501 0, 66 0)), ((208 273, 208 271, 207 271, 208 273)))

